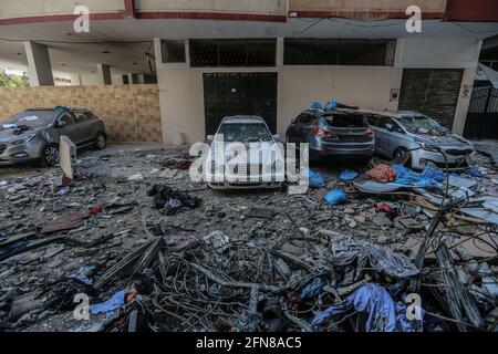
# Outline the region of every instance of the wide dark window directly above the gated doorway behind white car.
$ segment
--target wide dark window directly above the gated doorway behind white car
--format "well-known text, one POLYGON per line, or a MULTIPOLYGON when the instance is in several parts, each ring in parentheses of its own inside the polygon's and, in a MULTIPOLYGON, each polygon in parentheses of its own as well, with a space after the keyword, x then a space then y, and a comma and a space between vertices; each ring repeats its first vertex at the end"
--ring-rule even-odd
POLYGON ((190 40, 190 65, 274 66, 277 40, 190 40))

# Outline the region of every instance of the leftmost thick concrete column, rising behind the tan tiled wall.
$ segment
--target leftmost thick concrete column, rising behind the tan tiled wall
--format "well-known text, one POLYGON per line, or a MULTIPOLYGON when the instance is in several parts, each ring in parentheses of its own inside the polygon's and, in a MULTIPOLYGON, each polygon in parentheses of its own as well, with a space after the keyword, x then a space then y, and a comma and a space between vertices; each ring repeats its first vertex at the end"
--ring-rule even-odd
POLYGON ((24 50, 28 56, 30 86, 53 86, 49 48, 44 44, 24 41, 24 50))

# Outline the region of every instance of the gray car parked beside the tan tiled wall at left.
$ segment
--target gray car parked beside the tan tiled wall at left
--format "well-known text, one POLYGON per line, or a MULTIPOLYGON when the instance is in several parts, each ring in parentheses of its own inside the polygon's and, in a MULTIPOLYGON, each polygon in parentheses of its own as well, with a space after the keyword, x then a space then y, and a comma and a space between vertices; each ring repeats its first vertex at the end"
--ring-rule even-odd
POLYGON ((0 166, 41 160, 59 164, 59 142, 68 136, 77 147, 106 146, 104 123, 84 108, 32 108, 0 122, 0 166))

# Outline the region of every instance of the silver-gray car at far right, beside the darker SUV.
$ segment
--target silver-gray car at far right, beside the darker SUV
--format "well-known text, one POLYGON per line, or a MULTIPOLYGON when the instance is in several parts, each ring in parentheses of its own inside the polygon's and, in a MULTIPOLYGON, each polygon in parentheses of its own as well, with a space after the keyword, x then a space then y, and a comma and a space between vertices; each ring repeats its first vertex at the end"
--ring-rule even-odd
POLYGON ((473 144, 452 134, 433 118, 416 112, 362 111, 375 131, 375 152, 387 158, 409 153, 409 167, 467 168, 475 157, 473 144), (446 160, 445 160, 445 156, 446 160))

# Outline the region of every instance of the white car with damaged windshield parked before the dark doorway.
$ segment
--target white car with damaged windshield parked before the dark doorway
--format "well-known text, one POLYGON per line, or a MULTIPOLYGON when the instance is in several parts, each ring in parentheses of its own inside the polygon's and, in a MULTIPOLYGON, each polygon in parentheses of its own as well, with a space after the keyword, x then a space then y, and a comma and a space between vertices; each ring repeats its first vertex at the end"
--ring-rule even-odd
POLYGON ((207 139, 205 178, 210 188, 279 188, 284 181, 283 145, 263 118, 225 117, 207 139))

